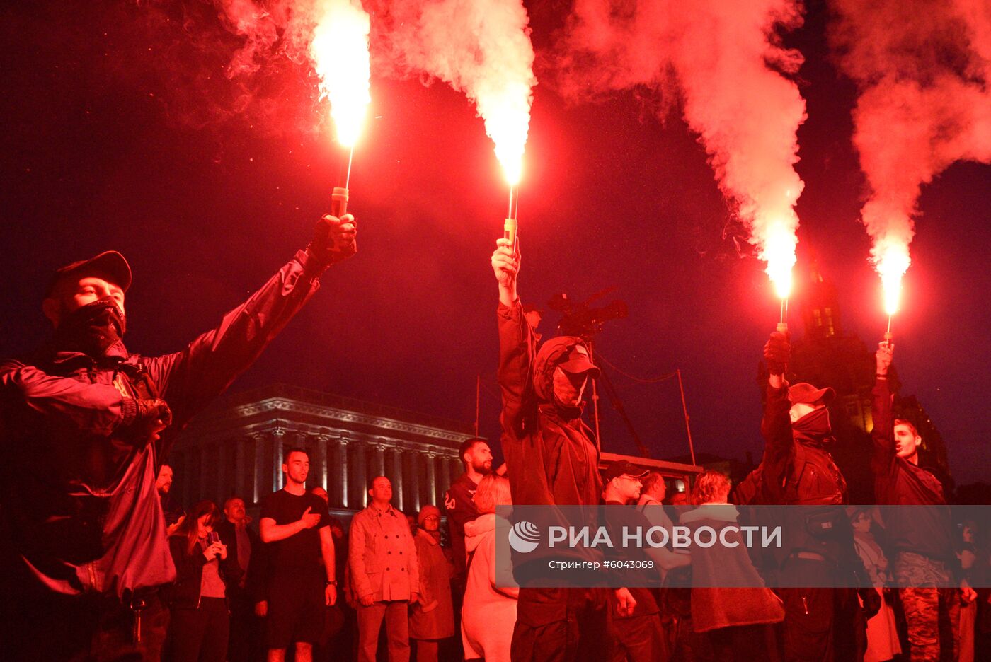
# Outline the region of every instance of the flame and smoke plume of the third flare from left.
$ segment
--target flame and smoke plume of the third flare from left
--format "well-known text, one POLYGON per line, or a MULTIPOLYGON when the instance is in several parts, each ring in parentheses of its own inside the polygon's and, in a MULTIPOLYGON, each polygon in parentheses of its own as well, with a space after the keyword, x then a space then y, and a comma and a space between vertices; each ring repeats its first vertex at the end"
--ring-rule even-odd
POLYGON ((560 45, 566 96, 646 87, 668 106, 680 91, 685 120, 779 296, 795 264, 804 186, 796 132, 806 113, 784 75, 802 56, 776 31, 801 21, 794 0, 578 0, 560 45))

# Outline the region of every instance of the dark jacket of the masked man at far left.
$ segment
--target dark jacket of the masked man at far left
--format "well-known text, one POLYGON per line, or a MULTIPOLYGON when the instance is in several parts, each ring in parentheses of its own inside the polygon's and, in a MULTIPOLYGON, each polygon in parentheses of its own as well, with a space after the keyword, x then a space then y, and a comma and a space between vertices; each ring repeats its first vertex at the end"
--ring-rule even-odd
POLYGON ((94 357, 51 343, 0 363, 5 576, 125 599, 171 582, 159 468, 176 433, 258 358, 321 271, 297 252, 217 328, 172 354, 132 354, 117 341, 94 357), (147 443, 132 423, 136 399, 151 397, 165 400, 172 425, 147 443))

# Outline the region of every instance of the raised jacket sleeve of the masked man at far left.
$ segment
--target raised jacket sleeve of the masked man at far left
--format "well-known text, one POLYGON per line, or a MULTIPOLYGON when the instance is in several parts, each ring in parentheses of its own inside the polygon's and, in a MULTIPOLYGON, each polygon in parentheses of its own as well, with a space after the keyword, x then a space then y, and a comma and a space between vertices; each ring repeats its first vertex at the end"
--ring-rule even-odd
POLYGON ((147 359, 148 372, 172 410, 170 430, 184 426, 255 362, 316 292, 321 268, 311 255, 297 251, 216 329, 201 334, 182 351, 147 359))

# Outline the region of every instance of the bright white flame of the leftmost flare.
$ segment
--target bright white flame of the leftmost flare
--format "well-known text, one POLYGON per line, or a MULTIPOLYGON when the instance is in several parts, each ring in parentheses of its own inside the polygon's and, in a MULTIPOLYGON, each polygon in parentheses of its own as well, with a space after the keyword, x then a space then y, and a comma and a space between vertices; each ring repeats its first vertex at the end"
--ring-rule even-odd
POLYGON ((320 95, 330 101, 337 140, 353 148, 365 125, 369 93, 369 15, 360 0, 318 0, 310 56, 320 95))

